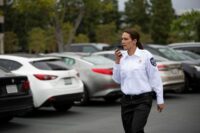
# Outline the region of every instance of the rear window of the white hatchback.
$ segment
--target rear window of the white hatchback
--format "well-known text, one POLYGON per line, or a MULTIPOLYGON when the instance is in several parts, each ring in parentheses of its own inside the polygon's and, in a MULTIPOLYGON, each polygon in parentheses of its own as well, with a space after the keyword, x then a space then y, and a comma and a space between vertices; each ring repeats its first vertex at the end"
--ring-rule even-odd
POLYGON ((69 70, 60 59, 33 61, 31 64, 41 70, 69 70))

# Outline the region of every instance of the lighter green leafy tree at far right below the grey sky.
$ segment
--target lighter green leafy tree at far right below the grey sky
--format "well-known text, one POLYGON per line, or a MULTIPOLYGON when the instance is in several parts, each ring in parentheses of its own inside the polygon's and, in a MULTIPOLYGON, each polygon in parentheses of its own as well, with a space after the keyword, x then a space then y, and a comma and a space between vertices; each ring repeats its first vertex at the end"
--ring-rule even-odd
POLYGON ((171 24, 170 42, 200 41, 200 12, 192 11, 181 15, 171 24))

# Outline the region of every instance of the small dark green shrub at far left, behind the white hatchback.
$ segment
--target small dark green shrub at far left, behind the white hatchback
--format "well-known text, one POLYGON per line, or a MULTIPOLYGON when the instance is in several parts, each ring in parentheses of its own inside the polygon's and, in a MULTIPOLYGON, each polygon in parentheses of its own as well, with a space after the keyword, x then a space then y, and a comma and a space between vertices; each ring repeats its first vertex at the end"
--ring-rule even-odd
POLYGON ((4 49, 5 53, 16 52, 19 49, 18 38, 14 32, 4 33, 4 49))

